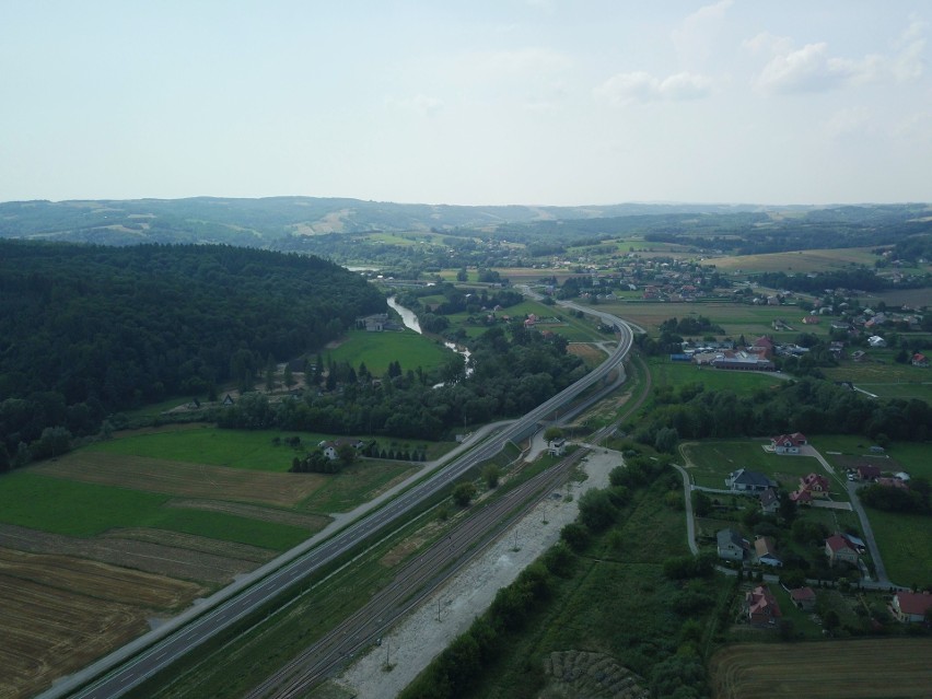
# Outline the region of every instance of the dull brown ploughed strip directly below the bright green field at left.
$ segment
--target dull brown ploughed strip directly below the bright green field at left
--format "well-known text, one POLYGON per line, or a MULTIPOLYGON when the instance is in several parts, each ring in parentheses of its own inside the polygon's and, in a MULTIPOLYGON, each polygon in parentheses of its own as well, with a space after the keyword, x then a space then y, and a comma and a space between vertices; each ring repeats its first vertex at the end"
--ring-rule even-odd
POLYGON ((249 560, 121 538, 82 539, 0 524, 0 546, 33 554, 90 558, 124 568, 211 584, 226 584, 256 568, 249 560))

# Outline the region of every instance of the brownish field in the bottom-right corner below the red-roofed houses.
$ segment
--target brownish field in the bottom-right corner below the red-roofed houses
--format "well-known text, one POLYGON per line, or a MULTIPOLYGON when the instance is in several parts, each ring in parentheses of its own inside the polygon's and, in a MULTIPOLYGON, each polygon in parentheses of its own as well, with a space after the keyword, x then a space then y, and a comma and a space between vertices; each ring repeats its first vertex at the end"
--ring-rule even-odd
POLYGON ((762 643, 712 659, 715 699, 929 697, 932 639, 762 643))

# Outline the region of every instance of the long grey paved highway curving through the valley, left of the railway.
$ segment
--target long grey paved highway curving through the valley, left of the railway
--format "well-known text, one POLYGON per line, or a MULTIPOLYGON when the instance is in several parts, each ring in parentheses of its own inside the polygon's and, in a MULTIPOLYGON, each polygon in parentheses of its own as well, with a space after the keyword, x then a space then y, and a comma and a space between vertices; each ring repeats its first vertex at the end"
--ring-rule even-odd
POLYGON ((520 442, 536 431, 537 423, 549 413, 555 412, 591 386, 605 380, 610 372, 621 364, 630 351, 633 341, 631 328, 624 321, 608 313, 571 303, 562 303, 561 305, 596 315, 603 322, 614 325, 618 329, 619 339, 615 351, 596 369, 500 432, 486 439, 468 453, 457 457, 450 465, 392 500, 382 509, 346 527, 334 535, 333 538, 295 558, 282 568, 270 572, 238 594, 229 599, 219 601, 215 606, 205 610, 201 616, 173 631, 161 641, 156 641, 130 660, 125 661, 125 654, 121 651, 103 659, 96 664, 97 676, 104 673, 108 674, 96 681, 82 688, 82 685, 86 684, 86 679, 79 674, 56 684, 50 690, 42 695, 42 698, 57 699, 68 696, 69 692, 74 692, 72 696, 80 699, 109 699, 123 696, 156 673, 166 669, 217 633, 257 611, 273 597, 352 549, 359 541, 399 520, 419 503, 456 481, 470 468, 491 458, 509 442, 520 442))

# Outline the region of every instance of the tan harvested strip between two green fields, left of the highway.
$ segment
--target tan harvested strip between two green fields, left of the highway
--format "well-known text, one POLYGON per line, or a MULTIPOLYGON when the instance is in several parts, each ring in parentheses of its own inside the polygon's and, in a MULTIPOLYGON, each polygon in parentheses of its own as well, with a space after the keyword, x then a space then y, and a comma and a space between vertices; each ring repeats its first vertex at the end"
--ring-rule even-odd
POLYGON ((86 451, 38 464, 32 470, 55 478, 144 492, 261 502, 284 508, 304 500, 325 482, 323 476, 315 474, 252 471, 86 451))

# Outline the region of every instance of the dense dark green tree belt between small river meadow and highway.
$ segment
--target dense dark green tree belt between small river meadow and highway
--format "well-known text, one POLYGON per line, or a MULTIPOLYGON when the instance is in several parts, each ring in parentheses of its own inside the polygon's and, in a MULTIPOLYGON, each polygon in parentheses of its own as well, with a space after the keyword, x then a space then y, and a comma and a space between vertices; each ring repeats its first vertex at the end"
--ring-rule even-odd
POLYGON ((310 389, 290 400, 272 404, 263 394, 244 395, 219 412, 218 423, 438 440, 457 428, 527 412, 586 372, 582 360, 567 352, 566 338, 545 337, 521 319, 493 326, 468 345, 468 376, 458 354, 432 371, 395 360, 382 377, 346 365, 335 370, 345 381, 312 373, 310 389))

